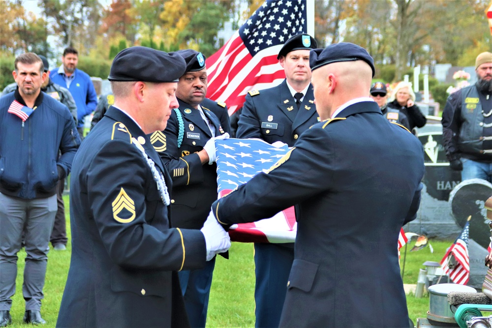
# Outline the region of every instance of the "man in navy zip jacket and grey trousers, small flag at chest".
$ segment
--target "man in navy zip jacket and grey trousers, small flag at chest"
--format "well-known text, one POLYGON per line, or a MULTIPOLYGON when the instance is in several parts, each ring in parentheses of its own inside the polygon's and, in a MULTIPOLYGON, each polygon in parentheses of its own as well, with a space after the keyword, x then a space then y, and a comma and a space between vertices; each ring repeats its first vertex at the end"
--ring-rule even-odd
POLYGON ((18 89, 0 98, 0 327, 12 321, 23 228, 27 253, 24 322, 46 323, 40 308, 57 212, 57 184, 70 172, 80 145, 68 108, 41 91, 46 79, 42 60, 26 53, 14 65, 18 89))

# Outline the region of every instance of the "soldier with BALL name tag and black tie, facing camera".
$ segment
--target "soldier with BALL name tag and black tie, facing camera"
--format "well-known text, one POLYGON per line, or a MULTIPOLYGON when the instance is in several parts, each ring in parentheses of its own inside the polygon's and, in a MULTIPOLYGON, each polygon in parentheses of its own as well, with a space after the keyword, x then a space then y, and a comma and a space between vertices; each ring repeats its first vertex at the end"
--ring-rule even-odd
MULTIPOLYGON (((288 39, 278 53, 285 80, 277 87, 249 91, 239 118, 237 138, 259 138, 289 147, 319 122, 314 105, 309 50, 316 40, 307 34, 288 39)), ((255 327, 278 327, 286 284, 294 260, 294 243, 254 244, 255 327)))

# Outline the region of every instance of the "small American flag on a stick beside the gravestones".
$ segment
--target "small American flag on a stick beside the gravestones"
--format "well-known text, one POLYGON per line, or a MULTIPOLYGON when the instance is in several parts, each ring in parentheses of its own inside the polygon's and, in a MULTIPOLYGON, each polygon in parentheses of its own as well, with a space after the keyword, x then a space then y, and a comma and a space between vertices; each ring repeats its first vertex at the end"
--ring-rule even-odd
POLYGON ((470 278, 470 258, 468 255, 469 230, 470 222, 466 221, 461 235, 449 247, 446 255, 441 260, 441 269, 445 274, 449 275, 455 284, 466 285, 470 278), (450 264, 452 256, 456 259, 456 264, 453 265, 450 264))

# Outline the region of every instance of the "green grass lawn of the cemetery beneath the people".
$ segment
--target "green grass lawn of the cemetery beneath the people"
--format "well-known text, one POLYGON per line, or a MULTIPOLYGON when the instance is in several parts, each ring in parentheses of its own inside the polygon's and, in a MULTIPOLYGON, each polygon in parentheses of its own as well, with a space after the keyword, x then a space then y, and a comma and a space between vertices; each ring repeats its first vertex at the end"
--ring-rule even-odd
MULTIPOLYGON (((68 220, 68 196, 65 196, 67 233, 70 236, 68 220)), ((439 262, 446 248, 452 241, 430 241, 434 253, 426 247, 417 252, 410 252, 408 247, 405 260, 403 282, 416 284, 420 268, 425 268, 426 261, 439 262)), ((413 243, 412 243, 413 245, 413 243)), ((51 247, 51 245, 50 245, 51 247)), ((44 300, 41 308, 47 324, 43 327, 55 327, 58 310, 62 301, 65 280, 70 265, 70 237, 66 251, 51 250, 48 255, 48 270, 44 286, 44 300)), ((253 246, 248 243, 234 242, 230 249, 230 260, 217 257, 210 292, 207 327, 254 327, 254 261, 253 246)), ((401 249, 400 267, 403 267, 405 248, 401 249)), ((24 315, 24 299, 22 298, 22 276, 24 270, 24 249, 19 253, 17 272, 17 293, 13 298, 11 309, 12 325, 9 327, 26 327, 22 322, 24 315)), ((357 274, 354 272, 354 274, 357 274)), ((426 317, 429 310, 429 297, 415 298, 407 295, 410 318, 416 323, 416 318, 426 317)))

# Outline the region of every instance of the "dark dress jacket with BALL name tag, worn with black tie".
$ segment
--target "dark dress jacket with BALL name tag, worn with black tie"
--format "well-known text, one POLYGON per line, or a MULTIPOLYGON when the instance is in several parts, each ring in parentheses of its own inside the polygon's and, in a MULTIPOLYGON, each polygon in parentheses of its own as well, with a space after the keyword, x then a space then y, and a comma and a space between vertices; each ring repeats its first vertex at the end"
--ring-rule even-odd
POLYGON ((296 100, 284 80, 277 87, 249 91, 239 118, 236 138, 259 138, 269 144, 281 141, 289 147, 301 133, 319 122, 312 85, 309 85, 299 112, 296 100))

